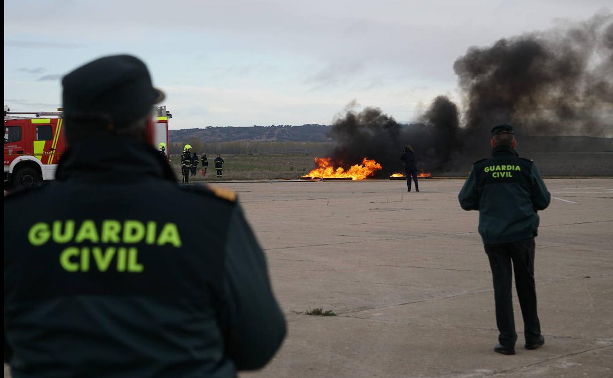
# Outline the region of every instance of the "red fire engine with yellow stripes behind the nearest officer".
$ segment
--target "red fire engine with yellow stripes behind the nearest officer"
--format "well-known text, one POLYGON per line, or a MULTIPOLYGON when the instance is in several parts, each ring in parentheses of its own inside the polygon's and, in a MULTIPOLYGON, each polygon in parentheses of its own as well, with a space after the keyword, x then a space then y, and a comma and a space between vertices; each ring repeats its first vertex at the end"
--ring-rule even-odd
MULTIPOLYGON (((53 180, 66 140, 61 108, 58 112, 4 112, 4 182, 28 187, 53 180)), ((154 107, 154 146, 166 143, 170 156, 166 107, 154 107)))

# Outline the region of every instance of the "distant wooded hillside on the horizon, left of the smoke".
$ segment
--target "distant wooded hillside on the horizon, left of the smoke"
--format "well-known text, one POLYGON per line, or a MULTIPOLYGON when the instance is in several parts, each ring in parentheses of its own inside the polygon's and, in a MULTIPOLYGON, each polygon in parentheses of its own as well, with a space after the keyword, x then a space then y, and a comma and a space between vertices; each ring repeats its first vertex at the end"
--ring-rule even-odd
POLYGON ((198 139, 202 142, 328 142, 330 126, 304 124, 302 126, 205 127, 204 129, 169 130, 172 142, 198 139))

